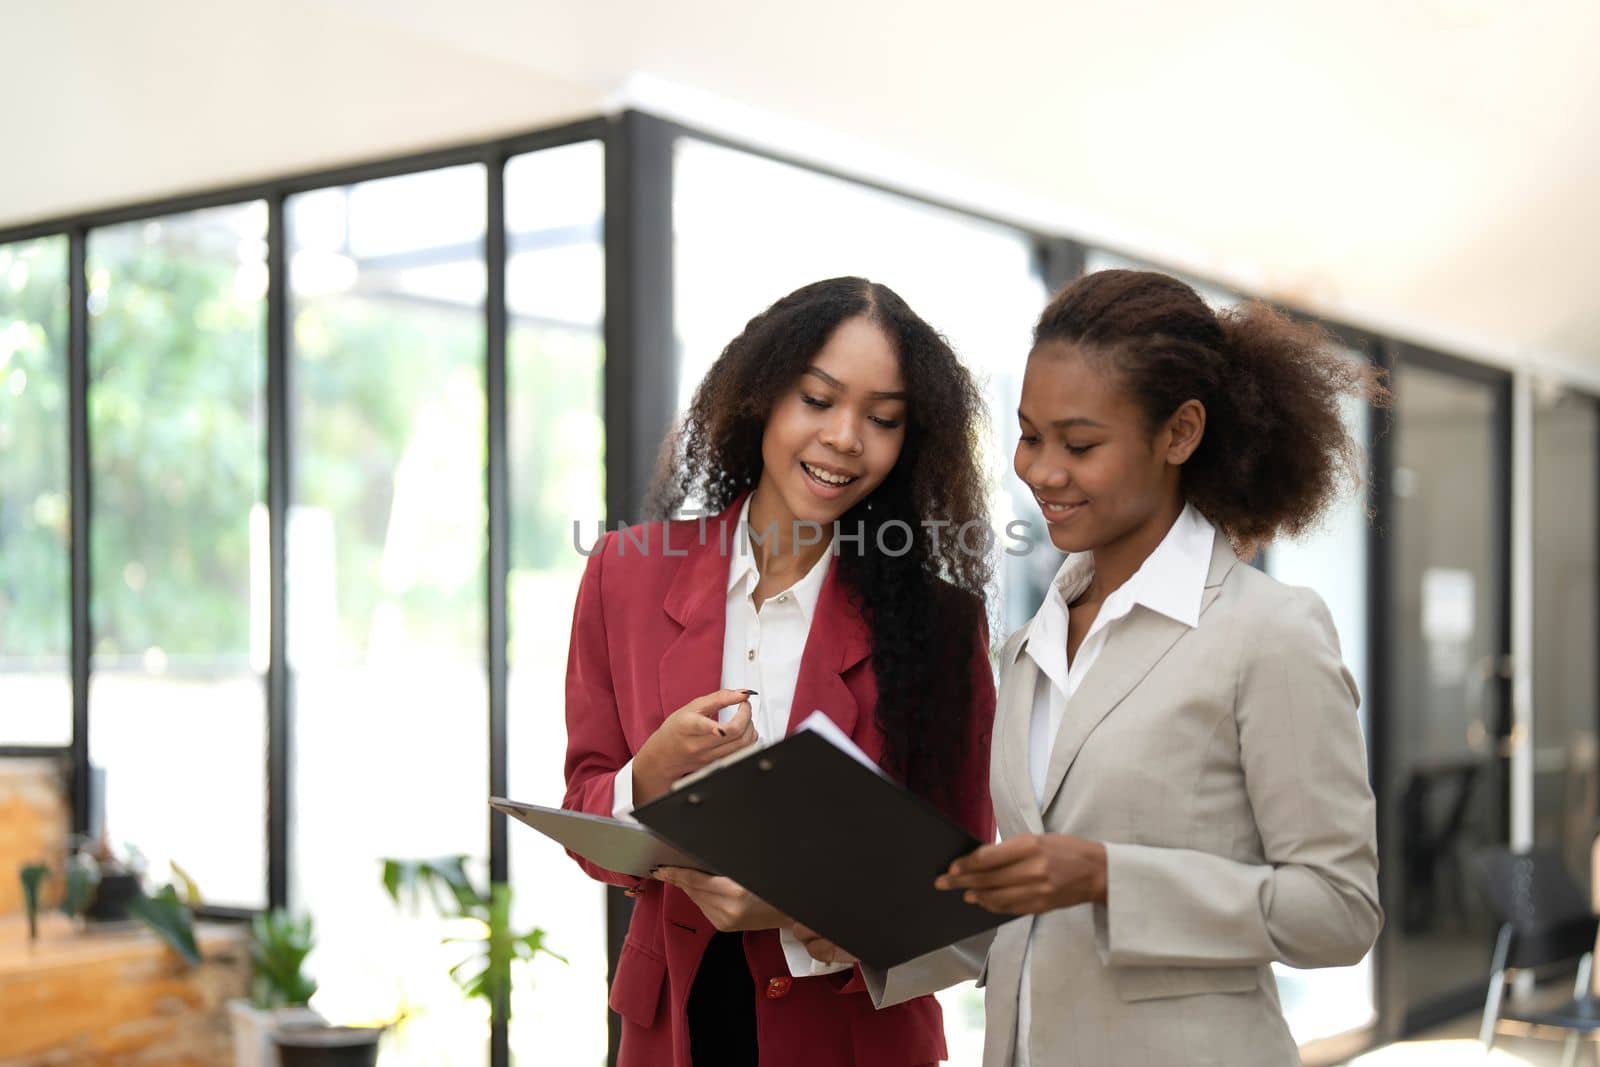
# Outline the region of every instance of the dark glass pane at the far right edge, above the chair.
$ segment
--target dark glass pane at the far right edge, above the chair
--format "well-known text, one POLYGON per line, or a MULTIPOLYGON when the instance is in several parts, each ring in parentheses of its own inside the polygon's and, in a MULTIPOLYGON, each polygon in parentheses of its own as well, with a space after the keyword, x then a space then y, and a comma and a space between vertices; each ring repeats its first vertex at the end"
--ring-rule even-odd
POLYGON ((1533 434, 1534 840, 1565 853, 1566 867, 1587 881, 1600 813, 1600 408, 1589 397, 1541 389, 1533 434))

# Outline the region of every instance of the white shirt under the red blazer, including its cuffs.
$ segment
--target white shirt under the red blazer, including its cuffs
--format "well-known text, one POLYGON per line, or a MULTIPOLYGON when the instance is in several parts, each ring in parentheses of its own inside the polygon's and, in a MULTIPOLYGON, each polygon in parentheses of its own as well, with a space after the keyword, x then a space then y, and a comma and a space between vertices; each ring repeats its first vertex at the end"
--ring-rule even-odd
MULTIPOLYGON (((723 606, 722 635, 722 688, 755 689, 750 697, 750 713, 760 742, 778 741, 789 733, 789 712, 794 707, 795 685, 800 680, 800 657, 811 633, 822 582, 832 565, 832 550, 806 571, 800 581, 755 609, 752 595, 762 581, 755 566, 755 552, 749 537, 750 499, 739 509, 728 561, 728 600, 723 606)), ((762 531, 757 531, 758 534, 762 531)), ((675 709, 672 709, 675 710, 675 709)), ((733 718, 736 707, 723 709, 720 720, 733 718)), ((627 817, 634 811, 634 761, 618 771, 611 793, 611 814, 627 817)), ((789 973, 795 977, 832 974, 848 965, 813 960, 805 945, 787 929, 779 931, 789 973)))

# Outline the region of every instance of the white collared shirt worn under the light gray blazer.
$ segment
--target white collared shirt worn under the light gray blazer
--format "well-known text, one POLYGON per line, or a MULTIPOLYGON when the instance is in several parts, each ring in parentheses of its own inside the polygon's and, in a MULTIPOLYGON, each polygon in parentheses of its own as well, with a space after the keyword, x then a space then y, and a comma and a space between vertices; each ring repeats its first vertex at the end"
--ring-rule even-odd
MULTIPOLYGON (((1094 622, 1078 645, 1077 656, 1067 661, 1067 606, 1083 595, 1094 577, 1094 553, 1074 552, 1056 571, 1050 592, 1038 613, 1029 621, 1026 653, 1038 665, 1038 685, 1034 689, 1034 713, 1027 729, 1027 768, 1034 782, 1034 798, 1045 806, 1045 784, 1050 771, 1050 755, 1061 733, 1061 721, 1070 712, 1072 694, 1093 670, 1094 661, 1136 606, 1165 614, 1187 627, 1200 624, 1200 601, 1205 598, 1205 579, 1211 569, 1211 549, 1216 530, 1205 515, 1186 504, 1178 522, 1166 531, 1133 577, 1106 597, 1094 622)), ((1037 929, 1037 925, 1034 926, 1037 929)), ((1016 1014, 1016 1067, 1029 1067, 1027 1033, 1032 1029, 1034 992, 1034 936, 1029 933, 1022 952, 1022 989, 1016 1014)))

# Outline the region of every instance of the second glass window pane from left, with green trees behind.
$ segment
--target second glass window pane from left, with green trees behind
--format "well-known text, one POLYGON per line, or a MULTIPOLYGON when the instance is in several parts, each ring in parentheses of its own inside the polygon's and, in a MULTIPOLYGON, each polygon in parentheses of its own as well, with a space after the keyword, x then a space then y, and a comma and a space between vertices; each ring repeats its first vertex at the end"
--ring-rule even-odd
POLYGON ((90 758, 114 841, 266 902, 261 202, 94 230, 90 758))

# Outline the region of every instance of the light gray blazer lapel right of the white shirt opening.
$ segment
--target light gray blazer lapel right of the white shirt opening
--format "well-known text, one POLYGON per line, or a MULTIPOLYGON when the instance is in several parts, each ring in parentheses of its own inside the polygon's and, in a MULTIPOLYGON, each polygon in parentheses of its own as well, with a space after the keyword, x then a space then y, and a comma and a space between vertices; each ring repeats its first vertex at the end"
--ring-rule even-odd
MULTIPOLYGON (((1206 569, 1205 592, 1200 598, 1200 614, 1216 601, 1222 592, 1222 581, 1238 563, 1234 547, 1221 530, 1211 542, 1211 563, 1206 569)), ((1134 609, 1115 629, 1106 635, 1106 648, 1088 677, 1072 694, 1067 704, 1067 715, 1061 721, 1061 733, 1050 752, 1050 771, 1045 776, 1045 803, 1048 809, 1061 784, 1078 758, 1083 742, 1094 733, 1112 710, 1138 686, 1147 673, 1166 656, 1168 649, 1178 643, 1189 627, 1176 619, 1170 619, 1158 611, 1150 611, 1142 605, 1134 609)))

